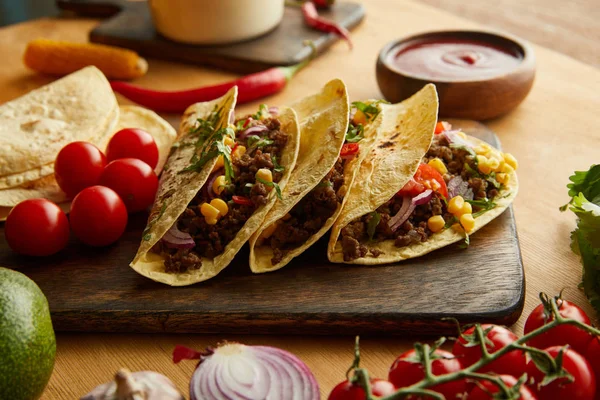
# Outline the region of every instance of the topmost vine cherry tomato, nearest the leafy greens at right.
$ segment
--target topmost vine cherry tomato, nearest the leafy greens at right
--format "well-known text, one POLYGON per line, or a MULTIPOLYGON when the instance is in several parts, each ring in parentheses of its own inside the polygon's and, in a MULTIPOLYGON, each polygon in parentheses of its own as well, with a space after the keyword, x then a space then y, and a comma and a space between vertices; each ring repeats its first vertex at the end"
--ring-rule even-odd
MULTIPOLYGON (((576 304, 571 303, 567 300, 559 300, 558 311, 560 315, 565 318, 572 318, 577 321, 583 322, 584 324, 590 325, 590 318, 576 304)), ((544 305, 540 304, 533 309, 531 314, 525 321, 525 334, 539 328, 542 325, 546 325, 554 319, 552 313, 547 314, 544 309, 544 305)), ((550 346, 564 346, 568 344, 572 349, 577 351, 579 354, 584 354, 587 345, 592 340, 592 335, 573 325, 560 325, 556 328, 552 328, 548 332, 544 332, 539 336, 531 339, 527 344, 538 349, 545 349, 550 346)))

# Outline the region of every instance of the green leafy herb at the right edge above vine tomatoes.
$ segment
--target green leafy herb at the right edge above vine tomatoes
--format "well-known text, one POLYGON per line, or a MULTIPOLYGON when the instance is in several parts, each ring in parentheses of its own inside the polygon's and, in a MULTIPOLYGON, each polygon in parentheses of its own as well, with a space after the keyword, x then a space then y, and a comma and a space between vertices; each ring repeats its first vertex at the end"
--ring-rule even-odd
POLYGON ((567 207, 577 216, 577 228, 571 233, 571 249, 581 257, 581 286, 596 311, 600 312, 600 165, 588 171, 576 171, 569 178, 571 201, 567 207))

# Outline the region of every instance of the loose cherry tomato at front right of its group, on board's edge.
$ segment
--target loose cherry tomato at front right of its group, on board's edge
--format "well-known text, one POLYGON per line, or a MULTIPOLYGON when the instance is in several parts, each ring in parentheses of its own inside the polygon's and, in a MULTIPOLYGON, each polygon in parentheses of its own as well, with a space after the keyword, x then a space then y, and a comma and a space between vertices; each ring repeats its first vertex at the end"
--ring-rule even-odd
POLYGON ((127 226, 127 209, 114 190, 92 186, 71 203, 71 229, 83 243, 107 246, 119 239, 127 226))

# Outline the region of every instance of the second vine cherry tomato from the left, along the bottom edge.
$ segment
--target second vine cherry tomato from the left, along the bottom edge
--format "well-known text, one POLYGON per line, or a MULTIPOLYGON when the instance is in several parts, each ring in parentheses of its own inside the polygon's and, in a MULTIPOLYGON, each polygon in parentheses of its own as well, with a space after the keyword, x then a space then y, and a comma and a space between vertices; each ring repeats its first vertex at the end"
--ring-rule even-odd
MULTIPOLYGON (((435 351, 435 355, 442 358, 435 359, 431 363, 431 372, 434 375, 444 375, 462 369, 460 361, 449 351, 438 349, 435 351)), ((415 350, 409 350, 402 353, 392 364, 388 380, 397 388, 414 385, 425 378, 423 365, 419 362, 411 361, 415 357, 415 350)), ((430 389, 443 394, 447 399, 455 399, 457 395, 467 390, 467 384, 465 380, 461 379, 433 386, 430 389)))

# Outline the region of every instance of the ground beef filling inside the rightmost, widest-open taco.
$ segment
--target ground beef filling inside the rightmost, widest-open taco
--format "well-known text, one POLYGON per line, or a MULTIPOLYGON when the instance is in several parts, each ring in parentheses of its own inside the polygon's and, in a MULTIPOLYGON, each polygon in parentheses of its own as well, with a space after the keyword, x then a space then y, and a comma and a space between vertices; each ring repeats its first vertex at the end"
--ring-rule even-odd
MULTIPOLYGON (((436 157, 444 161, 448 169, 448 173, 444 175, 446 183, 455 176, 460 175, 468 183, 475 200, 493 199, 498 195, 498 189, 494 185, 473 174, 472 171, 476 171, 477 166, 470 152, 461 148, 450 147, 444 135, 435 136, 429 151, 423 158, 423 163, 427 163, 436 157), (471 171, 465 165, 468 165, 471 171)), ((373 235, 374 241, 394 240, 396 247, 423 243, 433 234, 427 227, 427 220, 430 217, 441 215, 446 222, 451 221, 453 218, 453 215, 447 210, 443 196, 436 192, 428 203, 417 206, 406 222, 395 232, 392 232, 388 221, 400 210, 402 202, 402 197, 394 196, 377 209, 376 212, 381 219, 373 235)), ((473 211, 478 211, 478 208, 473 207, 473 211)), ((376 249, 370 250, 368 246, 367 227, 372 218, 374 218, 373 213, 364 215, 342 229, 344 261, 366 257, 369 253, 373 257, 378 257, 381 254, 376 249)))

